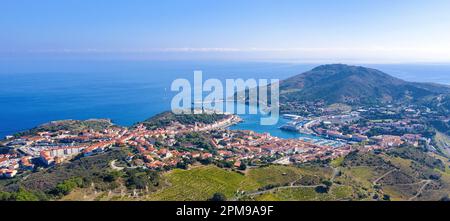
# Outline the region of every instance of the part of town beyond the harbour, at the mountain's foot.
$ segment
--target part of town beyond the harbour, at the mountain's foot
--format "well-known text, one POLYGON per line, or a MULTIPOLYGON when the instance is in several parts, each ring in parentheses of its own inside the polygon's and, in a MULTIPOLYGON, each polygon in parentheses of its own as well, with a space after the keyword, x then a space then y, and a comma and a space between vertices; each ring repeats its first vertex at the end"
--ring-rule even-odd
POLYGON ((431 111, 421 113, 411 107, 402 109, 392 105, 318 117, 285 114, 284 117, 290 122, 280 129, 313 135, 300 139, 322 145, 343 146, 364 142, 386 147, 400 146, 406 142, 416 147, 424 145, 431 148, 431 132, 424 122, 430 120, 427 117, 432 114, 431 111))

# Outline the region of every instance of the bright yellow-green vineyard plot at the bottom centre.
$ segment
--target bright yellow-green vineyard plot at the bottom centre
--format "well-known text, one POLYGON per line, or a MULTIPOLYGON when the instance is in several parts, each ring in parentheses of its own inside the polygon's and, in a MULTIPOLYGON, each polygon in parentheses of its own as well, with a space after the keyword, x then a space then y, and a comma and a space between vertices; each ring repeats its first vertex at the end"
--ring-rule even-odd
MULTIPOLYGON (((265 192, 277 188, 296 189, 302 178, 317 177, 329 179, 331 171, 326 168, 297 168, 293 166, 276 166, 254 168, 246 175, 227 171, 215 166, 198 167, 191 170, 174 170, 165 176, 167 186, 150 194, 147 200, 206 200, 214 193, 223 193, 228 199, 259 200, 267 198, 265 192)), ((306 189, 312 189, 311 185, 306 189)), ((286 200, 274 197, 272 200, 286 200)), ((306 199, 306 198, 305 198, 306 199)))

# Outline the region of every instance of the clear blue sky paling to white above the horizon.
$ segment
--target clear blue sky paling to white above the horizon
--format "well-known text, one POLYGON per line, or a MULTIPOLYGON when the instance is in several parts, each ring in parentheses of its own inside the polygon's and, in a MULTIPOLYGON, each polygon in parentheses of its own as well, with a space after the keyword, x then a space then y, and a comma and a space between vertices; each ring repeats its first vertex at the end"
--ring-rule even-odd
POLYGON ((448 0, 2 0, 0 59, 450 62, 448 0))

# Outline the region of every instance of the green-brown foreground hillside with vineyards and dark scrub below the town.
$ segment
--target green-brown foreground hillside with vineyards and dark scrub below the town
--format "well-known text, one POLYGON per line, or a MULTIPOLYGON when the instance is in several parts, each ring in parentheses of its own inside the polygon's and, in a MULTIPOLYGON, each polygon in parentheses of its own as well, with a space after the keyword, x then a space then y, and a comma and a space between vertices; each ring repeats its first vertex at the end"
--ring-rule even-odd
POLYGON ((46 200, 197 201, 222 193, 228 200, 250 201, 415 201, 445 199, 450 189, 448 159, 412 147, 385 153, 354 152, 331 162, 268 165, 245 172, 214 165, 158 175, 132 170, 114 172, 109 168, 111 160, 123 157, 120 151, 113 151, 75 160, 27 179, 9 181, 3 184, 4 191, 22 186, 37 196, 46 195, 46 200), (88 171, 78 171, 81 165, 88 171), (83 178, 82 185, 55 195, 61 191, 61 183, 77 177, 83 178), (141 183, 141 187, 136 186, 141 183))

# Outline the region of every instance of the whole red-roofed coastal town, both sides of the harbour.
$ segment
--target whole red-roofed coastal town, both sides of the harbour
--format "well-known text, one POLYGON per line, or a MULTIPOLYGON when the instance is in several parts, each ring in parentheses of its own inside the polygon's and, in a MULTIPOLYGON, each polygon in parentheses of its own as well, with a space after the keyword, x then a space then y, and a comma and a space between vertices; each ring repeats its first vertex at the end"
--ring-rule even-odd
POLYGON ((237 169, 271 163, 306 163, 335 159, 354 150, 388 149, 403 144, 431 149, 427 128, 420 119, 433 114, 427 110, 393 106, 360 108, 317 117, 285 114, 283 117, 291 121, 280 129, 305 135, 298 139, 229 130, 228 126, 241 121, 232 114, 225 114, 212 123, 171 122, 165 127, 151 129, 137 124, 130 128, 108 126, 102 130, 44 130, 9 136, 1 141, 1 145, 14 151, 0 155, 0 177, 12 178, 25 171, 119 147, 131 150, 127 166, 151 170, 187 168, 193 162, 218 163, 237 169), (371 119, 382 114, 390 117, 371 119))

